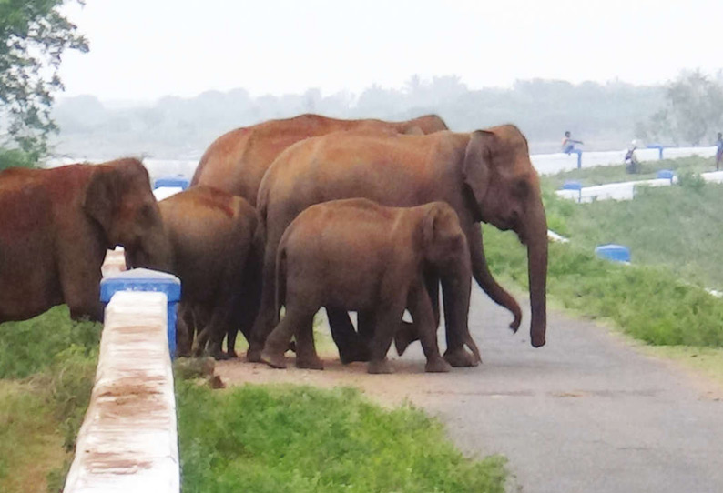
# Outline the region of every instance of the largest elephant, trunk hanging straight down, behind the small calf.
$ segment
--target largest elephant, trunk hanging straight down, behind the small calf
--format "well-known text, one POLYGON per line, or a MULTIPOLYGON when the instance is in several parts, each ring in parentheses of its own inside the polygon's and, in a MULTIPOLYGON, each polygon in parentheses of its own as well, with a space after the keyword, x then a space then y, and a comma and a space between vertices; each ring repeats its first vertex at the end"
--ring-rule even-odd
MULTIPOLYGON (((369 198, 384 206, 447 202, 460 217, 475 280, 498 303, 501 298, 493 295, 509 295, 504 290, 492 294, 488 290, 496 283, 484 260, 480 222, 513 229, 527 245, 531 342, 534 347, 545 344, 545 209, 527 141, 517 127, 495 126, 470 134, 438 132, 429 136, 337 133, 291 146, 270 166, 260 186, 258 210, 266 251, 260 314, 251 336, 249 360, 260 359, 264 340, 273 327, 275 261, 284 230, 307 207, 350 197, 369 198)), ((432 292, 436 286, 436 279, 428 283, 432 292)), ((455 337, 461 333, 459 327, 454 327, 461 323, 455 319, 459 313, 455 301, 443 297, 448 326, 446 357, 464 366, 459 363, 472 364, 473 358, 464 355, 463 341, 455 337)), ((509 300, 502 301, 510 304, 509 300)))

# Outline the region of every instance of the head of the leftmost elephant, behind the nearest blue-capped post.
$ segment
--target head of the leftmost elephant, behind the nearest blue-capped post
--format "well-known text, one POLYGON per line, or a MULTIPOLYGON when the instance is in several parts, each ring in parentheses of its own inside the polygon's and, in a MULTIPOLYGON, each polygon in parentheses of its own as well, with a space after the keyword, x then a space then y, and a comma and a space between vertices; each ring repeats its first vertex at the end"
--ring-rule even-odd
POLYGON ((148 171, 140 161, 127 158, 97 165, 83 207, 102 229, 107 247, 125 248, 129 267, 169 269, 170 245, 148 171))

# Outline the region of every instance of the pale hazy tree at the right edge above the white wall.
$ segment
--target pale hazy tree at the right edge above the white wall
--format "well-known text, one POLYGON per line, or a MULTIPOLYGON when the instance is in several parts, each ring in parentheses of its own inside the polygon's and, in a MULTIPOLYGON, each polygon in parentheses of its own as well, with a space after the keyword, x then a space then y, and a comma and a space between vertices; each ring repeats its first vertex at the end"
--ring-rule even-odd
POLYGON ((636 136, 698 146, 721 125, 723 85, 699 70, 667 84, 665 106, 636 126, 636 136))

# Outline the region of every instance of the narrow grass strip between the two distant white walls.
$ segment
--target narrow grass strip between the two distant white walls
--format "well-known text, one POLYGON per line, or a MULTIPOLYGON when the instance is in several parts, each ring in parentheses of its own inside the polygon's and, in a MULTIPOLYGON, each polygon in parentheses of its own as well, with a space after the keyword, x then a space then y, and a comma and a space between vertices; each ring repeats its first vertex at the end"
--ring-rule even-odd
POLYGON ((561 188, 565 181, 575 180, 583 186, 602 185, 633 180, 647 180, 657 177, 661 169, 670 169, 677 176, 700 174, 716 170, 716 161, 713 157, 680 157, 677 159, 662 159, 659 161, 643 161, 640 163, 639 173, 634 175, 626 172, 625 165, 619 166, 593 166, 564 171, 552 176, 545 176, 545 183, 553 188, 561 188))

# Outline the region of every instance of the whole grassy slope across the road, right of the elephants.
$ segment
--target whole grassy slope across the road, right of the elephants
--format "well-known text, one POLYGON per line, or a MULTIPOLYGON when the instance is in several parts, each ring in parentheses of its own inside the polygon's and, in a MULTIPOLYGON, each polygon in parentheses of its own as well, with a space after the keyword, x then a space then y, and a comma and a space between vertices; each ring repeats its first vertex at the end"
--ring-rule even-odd
MULTIPOLYGON (((664 168, 677 170, 679 186, 642 188, 621 202, 575 204, 553 190, 566 179, 629 180, 624 166, 543 178, 548 226, 570 238, 550 245, 548 294, 555 304, 664 347, 658 354, 695 357, 696 366, 723 381, 723 300, 704 289, 723 290, 723 186, 695 175, 714 169, 711 159, 643 163, 648 176, 664 168), (633 265, 597 259, 594 248, 605 243, 629 247, 633 265)), ((484 244, 494 272, 526 286, 525 251, 514 235, 485 226, 484 244)))

